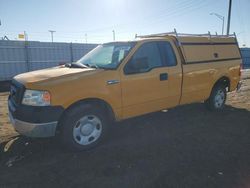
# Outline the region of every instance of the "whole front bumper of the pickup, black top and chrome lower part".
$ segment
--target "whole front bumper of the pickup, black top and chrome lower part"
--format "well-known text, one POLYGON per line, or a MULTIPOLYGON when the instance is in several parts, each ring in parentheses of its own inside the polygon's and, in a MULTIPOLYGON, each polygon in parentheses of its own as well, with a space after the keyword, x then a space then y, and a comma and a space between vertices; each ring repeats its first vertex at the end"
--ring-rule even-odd
POLYGON ((8 107, 10 122, 18 133, 40 138, 55 136, 58 120, 64 111, 60 106, 15 105, 10 98, 8 107))

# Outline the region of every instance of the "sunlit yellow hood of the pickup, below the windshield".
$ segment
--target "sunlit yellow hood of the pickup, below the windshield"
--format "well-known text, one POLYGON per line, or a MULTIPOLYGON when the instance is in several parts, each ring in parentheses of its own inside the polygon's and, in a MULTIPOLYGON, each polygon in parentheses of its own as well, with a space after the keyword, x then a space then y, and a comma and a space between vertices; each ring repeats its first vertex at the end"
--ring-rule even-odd
POLYGON ((31 83, 43 82, 48 80, 54 80, 59 78, 65 78, 84 72, 95 72, 96 69, 92 68, 68 68, 65 66, 53 67, 49 69, 42 69, 32 72, 19 74, 14 77, 18 82, 26 85, 31 83))

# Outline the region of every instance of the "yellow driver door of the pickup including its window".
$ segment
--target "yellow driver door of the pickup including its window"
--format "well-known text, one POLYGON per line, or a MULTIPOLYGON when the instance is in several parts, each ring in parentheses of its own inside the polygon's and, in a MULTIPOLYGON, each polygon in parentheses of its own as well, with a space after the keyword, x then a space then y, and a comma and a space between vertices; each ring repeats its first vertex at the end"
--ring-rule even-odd
POLYGON ((157 41, 142 43, 121 73, 123 118, 166 108, 168 86, 157 41))

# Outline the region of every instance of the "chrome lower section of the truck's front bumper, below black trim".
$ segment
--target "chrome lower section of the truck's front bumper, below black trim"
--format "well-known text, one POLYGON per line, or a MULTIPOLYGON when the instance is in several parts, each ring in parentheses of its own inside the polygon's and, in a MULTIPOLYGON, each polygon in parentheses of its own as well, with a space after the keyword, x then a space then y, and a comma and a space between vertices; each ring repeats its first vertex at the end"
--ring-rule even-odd
POLYGON ((14 119, 9 111, 10 122, 15 130, 21 135, 28 137, 51 137, 55 136, 57 121, 49 123, 29 123, 14 119))

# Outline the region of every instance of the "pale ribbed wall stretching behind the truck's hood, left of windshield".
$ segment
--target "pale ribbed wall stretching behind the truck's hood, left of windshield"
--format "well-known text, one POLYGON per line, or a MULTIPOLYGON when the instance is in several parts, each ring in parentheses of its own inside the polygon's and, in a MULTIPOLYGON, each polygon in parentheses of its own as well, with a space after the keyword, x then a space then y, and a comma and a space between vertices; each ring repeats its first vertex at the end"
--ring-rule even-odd
POLYGON ((0 81, 13 76, 73 62, 97 44, 0 41, 0 81))

